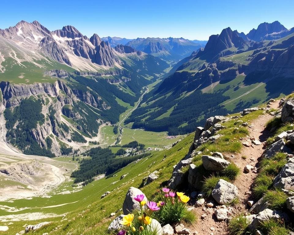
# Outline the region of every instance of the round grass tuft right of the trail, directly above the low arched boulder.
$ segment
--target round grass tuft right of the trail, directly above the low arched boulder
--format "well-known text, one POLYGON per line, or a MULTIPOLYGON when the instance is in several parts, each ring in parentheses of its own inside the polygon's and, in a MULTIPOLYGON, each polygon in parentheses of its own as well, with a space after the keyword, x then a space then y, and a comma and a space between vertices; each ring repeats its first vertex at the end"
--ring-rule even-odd
POLYGON ((272 210, 284 210, 286 208, 287 195, 281 189, 268 190, 264 195, 264 202, 269 204, 272 210))

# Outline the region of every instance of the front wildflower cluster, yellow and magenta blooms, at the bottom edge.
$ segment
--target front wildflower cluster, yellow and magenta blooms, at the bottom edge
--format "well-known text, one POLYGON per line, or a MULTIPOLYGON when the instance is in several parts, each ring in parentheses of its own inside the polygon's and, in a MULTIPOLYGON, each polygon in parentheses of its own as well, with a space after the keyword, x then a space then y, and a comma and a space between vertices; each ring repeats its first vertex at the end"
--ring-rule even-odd
MULTIPOLYGON (((122 225, 125 226, 125 229, 120 230, 118 235, 147 235, 152 234, 151 223, 152 218, 151 215, 154 211, 159 211, 160 207, 163 205, 162 202, 156 203, 153 201, 146 202, 144 200, 145 196, 143 194, 139 194, 134 197, 140 205, 140 211, 137 211, 137 223, 134 225, 134 217, 135 214, 127 214, 123 217, 123 220, 120 222, 122 225)), ((136 212, 134 212, 136 213, 136 212)))

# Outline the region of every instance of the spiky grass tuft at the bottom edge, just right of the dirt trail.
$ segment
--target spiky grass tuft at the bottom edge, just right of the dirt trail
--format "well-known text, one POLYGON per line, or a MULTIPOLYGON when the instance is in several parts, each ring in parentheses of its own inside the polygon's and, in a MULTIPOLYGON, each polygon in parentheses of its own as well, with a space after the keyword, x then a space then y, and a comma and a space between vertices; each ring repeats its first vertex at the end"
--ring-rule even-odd
POLYGON ((228 231, 230 235, 245 235, 251 234, 248 229, 250 221, 246 219, 244 215, 239 215, 231 219, 228 225, 228 231))

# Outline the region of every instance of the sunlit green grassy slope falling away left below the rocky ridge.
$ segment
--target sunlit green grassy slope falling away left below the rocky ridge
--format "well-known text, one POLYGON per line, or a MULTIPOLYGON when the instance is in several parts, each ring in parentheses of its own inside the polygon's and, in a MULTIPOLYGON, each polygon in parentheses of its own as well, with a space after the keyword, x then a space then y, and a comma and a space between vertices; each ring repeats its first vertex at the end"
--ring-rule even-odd
MULTIPOLYGON (((154 170, 160 171, 158 180, 142 188, 142 191, 148 198, 151 198, 153 193, 159 187, 159 183, 166 181, 170 178, 173 166, 179 162, 188 152, 189 147, 192 143, 194 135, 190 134, 184 140, 180 141, 177 145, 172 147, 170 150, 154 152, 149 158, 143 159, 137 164, 131 163, 121 170, 117 176, 108 179, 101 179, 93 181, 89 185, 85 186, 83 190, 65 195, 52 195, 51 198, 33 198, 32 200, 14 200, 11 202, 0 202, 1 205, 8 205, 14 207, 30 207, 24 211, 16 212, 13 214, 32 213, 32 212, 43 212, 43 213, 58 213, 63 214, 69 212, 66 215, 68 220, 62 221, 62 216, 56 218, 47 218, 37 221, 30 221, 30 224, 34 224, 42 221, 53 221, 54 223, 46 228, 38 230, 34 234, 43 234, 49 232, 55 227, 61 225, 59 229, 50 234, 67 234, 72 232, 73 235, 80 235, 83 233, 87 234, 104 234, 106 232, 108 224, 111 222, 109 214, 111 212, 118 211, 123 203, 126 191, 130 186, 139 187, 142 179, 148 176, 149 172, 154 170), (164 159, 164 155, 167 155, 164 159), (148 169, 149 172, 145 172, 148 169), (128 173, 128 175, 120 179, 120 176, 128 173), (114 184, 111 184, 115 182, 114 184), (104 199, 100 200, 100 196, 106 192, 111 191, 104 199), (77 203, 73 203, 78 201, 77 203), (111 202, 111 203, 110 203, 111 202), (33 207, 44 207, 59 205, 62 203, 72 203, 60 207, 53 208, 36 208, 33 207), (101 230, 103 232, 101 232, 101 230)), ((72 182, 63 184, 58 191, 62 189, 69 190, 72 182)), ((9 212, 0 211, 1 215, 11 214, 9 212)), ((22 230, 22 226, 28 222, 14 222, 13 225, 9 226, 8 233, 0 232, 0 234, 15 234, 22 230)), ((0 222, 0 226, 3 225, 0 222)), ((28 233, 30 234, 30 233, 28 233)))

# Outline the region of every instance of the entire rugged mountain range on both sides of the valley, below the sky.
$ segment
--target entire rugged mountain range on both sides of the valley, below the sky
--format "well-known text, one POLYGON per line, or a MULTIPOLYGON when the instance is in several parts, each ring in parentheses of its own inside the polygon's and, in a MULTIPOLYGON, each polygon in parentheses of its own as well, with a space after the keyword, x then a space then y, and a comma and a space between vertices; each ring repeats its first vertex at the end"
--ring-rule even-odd
POLYGON ((177 135, 294 90, 293 28, 277 21, 247 35, 228 27, 206 44, 110 39, 37 21, 0 30, 3 138, 26 154, 61 155, 95 140, 100 125, 117 123, 139 98, 125 124, 177 135))

